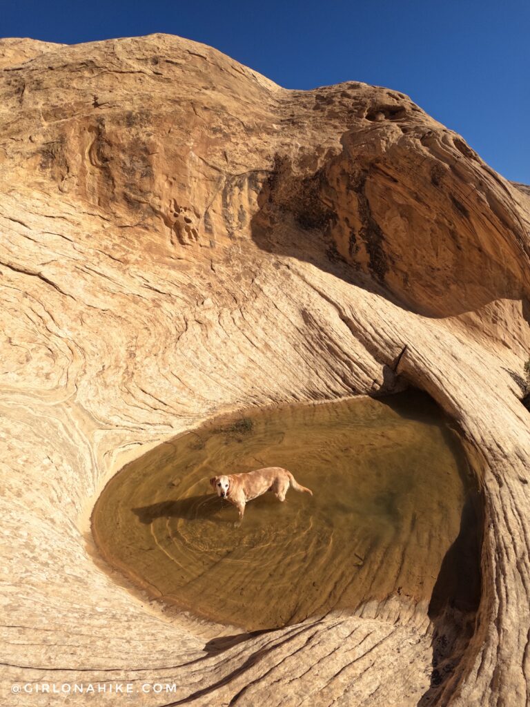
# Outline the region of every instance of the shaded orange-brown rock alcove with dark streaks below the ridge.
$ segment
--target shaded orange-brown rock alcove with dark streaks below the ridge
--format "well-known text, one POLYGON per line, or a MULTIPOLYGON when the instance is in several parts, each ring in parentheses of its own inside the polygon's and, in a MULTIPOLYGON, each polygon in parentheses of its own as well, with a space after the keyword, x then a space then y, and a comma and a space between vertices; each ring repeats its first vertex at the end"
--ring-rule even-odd
POLYGON ((424 317, 458 316, 504 299, 520 301, 529 322, 529 293, 512 245, 521 224, 493 195, 496 187, 477 177, 479 187, 469 191, 464 206, 454 196, 460 178, 440 156, 418 157, 400 143, 388 152, 365 153, 365 140, 374 137, 363 140, 363 130, 355 131, 353 148, 347 146, 350 133, 344 134, 343 151, 314 173, 276 154, 259 189, 253 242, 424 317), (426 161, 433 174, 441 171, 442 182, 426 161), (491 229, 483 228, 485 201, 491 229), (384 223, 389 211, 399 228, 384 223))

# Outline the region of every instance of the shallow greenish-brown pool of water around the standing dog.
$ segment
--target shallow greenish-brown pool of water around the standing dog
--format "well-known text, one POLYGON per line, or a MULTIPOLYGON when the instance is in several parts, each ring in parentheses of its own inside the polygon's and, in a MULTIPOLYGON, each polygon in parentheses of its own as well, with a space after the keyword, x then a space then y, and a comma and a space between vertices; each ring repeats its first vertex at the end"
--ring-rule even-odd
POLYGON ((93 534, 153 597, 271 629, 391 595, 427 607, 469 488, 456 433, 420 392, 297 404, 211 421, 127 464, 93 534), (237 526, 208 479, 267 466, 314 496, 267 493, 237 526))

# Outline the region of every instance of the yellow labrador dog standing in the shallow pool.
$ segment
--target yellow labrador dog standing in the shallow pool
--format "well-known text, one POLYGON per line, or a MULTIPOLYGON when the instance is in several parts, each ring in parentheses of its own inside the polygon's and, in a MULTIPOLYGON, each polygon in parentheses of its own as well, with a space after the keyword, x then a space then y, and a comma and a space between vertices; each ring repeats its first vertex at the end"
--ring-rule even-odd
POLYGON ((247 501, 252 501, 252 498, 257 498, 266 491, 272 491, 278 501, 285 501, 285 493, 289 487, 295 491, 305 491, 313 495, 311 489, 300 486, 293 474, 281 467, 266 467, 245 474, 212 477, 210 483, 220 498, 226 498, 237 507, 240 520, 245 513, 247 501))

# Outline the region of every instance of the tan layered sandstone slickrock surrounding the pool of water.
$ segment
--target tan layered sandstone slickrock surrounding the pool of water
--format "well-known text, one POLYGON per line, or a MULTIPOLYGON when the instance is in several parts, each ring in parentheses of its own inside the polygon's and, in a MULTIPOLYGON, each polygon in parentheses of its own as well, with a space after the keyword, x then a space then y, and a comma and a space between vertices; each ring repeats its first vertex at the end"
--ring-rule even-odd
POLYGON ((0 66, 4 703, 130 681, 176 684, 153 706, 524 705, 527 189, 401 93, 285 90, 177 37, 1 40, 0 66), (230 638, 92 556, 95 498, 153 445, 406 383, 481 489, 476 617, 395 595, 230 638))

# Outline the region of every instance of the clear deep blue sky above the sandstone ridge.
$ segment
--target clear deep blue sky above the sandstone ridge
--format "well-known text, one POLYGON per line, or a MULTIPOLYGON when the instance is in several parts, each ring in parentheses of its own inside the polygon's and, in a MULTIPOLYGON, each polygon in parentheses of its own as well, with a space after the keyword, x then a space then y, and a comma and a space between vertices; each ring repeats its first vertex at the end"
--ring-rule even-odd
POLYGON ((408 93, 508 179, 530 184, 530 0, 0 0, 0 36, 88 42, 167 32, 287 88, 408 93))

